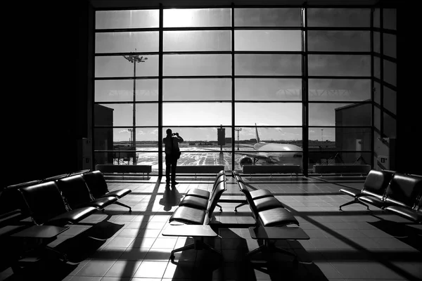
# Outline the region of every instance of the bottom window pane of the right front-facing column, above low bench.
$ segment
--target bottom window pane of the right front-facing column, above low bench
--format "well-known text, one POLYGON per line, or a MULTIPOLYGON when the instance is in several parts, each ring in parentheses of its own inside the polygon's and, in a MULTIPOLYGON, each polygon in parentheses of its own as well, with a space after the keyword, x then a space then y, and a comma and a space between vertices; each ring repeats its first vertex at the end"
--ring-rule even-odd
POLYGON ((314 165, 371 164, 370 152, 309 151, 309 172, 314 165))

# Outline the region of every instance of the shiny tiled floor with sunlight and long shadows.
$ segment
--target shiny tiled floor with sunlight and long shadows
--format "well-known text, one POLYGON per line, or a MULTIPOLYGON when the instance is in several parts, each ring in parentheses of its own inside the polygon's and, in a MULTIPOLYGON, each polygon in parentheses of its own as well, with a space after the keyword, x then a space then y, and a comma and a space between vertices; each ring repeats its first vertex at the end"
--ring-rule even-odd
MULTIPOLYGON (((70 226, 50 246, 68 253, 77 265, 39 261, 28 266, 27 275, 13 275, 10 269, 0 280, 71 281, 164 281, 164 280, 421 280, 421 226, 395 215, 352 204, 338 206, 351 197, 338 190, 343 186, 362 188, 362 178, 252 178, 244 177, 251 189, 269 189, 293 212, 309 240, 279 241, 276 244, 299 256, 298 268, 291 258, 274 254, 267 267, 260 267, 260 254, 253 264, 244 254, 258 247, 245 223, 253 221, 248 206, 234 212, 234 203, 222 203, 215 211, 220 223, 243 228, 220 228, 219 237, 207 240, 222 256, 209 251, 178 252, 174 263, 170 251, 191 242, 186 237, 165 237, 170 215, 186 190, 210 190, 212 178, 179 178, 177 189, 165 192, 157 177, 149 180, 109 181, 110 190, 130 188, 120 202, 132 206, 132 213, 118 205, 106 208, 70 226), (87 235, 105 238, 92 240, 87 235)), ((228 178, 224 197, 238 197, 233 178, 228 178)))

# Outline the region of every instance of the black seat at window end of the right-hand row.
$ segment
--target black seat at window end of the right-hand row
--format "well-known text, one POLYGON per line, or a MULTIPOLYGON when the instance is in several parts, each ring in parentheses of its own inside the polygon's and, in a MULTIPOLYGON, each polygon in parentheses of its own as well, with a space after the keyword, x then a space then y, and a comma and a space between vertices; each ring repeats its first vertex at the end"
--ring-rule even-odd
POLYGON ((354 188, 341 188, 339 191, 345 195, 353 197, 353 200, 340 206, 342 207, 350 204, 358 203, 364 205, 367 209, 369 206, 362 201, 359 201, 359 197, 364 197, 364 201, 370 202, 370 204, 376 206, 383 206, 383 196, 385 190, 388 188, 388 184, 391 181, 394 171, 377 171, 371 170, 365 178, 362 190, 356 190, 354 188))

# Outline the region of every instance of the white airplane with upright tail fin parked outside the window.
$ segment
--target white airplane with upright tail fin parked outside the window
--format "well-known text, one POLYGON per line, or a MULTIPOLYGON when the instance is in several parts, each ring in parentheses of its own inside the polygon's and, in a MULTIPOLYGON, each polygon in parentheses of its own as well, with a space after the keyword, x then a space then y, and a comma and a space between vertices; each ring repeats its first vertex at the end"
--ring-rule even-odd
POLYGON ((265 143, 260 141, 258 135, 257 124, 255 123, 255 135, 257 143, 253 145, 253 149, 257 152, 243 151, 245 155, 241 157, 239 164, 256 164, 257 162, 265 162, 267 164, 285 164, 302 166, 302 148, 298 145, 290 145, 285 143, 265 143))

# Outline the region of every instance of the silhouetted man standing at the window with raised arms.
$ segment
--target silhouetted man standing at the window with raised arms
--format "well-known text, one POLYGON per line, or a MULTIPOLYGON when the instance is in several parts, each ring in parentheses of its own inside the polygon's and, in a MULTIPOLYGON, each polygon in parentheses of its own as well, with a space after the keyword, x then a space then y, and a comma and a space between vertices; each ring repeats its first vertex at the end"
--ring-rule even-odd
POLYGON ((172 133, 172 129, 165 131, 167 136, 162 139, 162 143, 165 144, 165 181, 167 185, 177 185, 176 182, 176 166, 177 159, 180 157, 179 143, 183 141, 183 138, 179 136, 179 133, 172 133), (170 171, 172 176, 170 177, 170 171))

